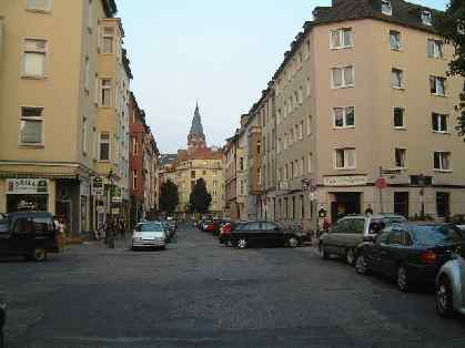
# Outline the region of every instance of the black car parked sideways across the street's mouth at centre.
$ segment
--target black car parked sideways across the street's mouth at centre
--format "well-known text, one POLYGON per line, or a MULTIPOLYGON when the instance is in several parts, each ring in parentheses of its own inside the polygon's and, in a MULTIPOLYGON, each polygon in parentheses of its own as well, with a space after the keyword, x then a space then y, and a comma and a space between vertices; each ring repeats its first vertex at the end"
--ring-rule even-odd
POLYGON ((234 224, 231 233, 223 234, 220 242, 237 248, 259 245, 296 247, 303 242, 303 236, 286 232, 276 223, 253 221, 234 224))

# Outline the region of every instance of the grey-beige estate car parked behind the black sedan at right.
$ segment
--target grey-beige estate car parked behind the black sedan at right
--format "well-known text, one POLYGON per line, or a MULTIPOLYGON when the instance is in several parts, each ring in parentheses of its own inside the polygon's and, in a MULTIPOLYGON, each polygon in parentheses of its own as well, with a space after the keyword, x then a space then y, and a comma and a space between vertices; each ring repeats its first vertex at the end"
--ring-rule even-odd
POLYGON ((320 255, 324 259, 330 255, 343 256, 347 264, 354 265, 363 237, 376 235, 385 226, 403 222, 406 222, 406 218, 395 214, 343 217, 320 237, 320 255))

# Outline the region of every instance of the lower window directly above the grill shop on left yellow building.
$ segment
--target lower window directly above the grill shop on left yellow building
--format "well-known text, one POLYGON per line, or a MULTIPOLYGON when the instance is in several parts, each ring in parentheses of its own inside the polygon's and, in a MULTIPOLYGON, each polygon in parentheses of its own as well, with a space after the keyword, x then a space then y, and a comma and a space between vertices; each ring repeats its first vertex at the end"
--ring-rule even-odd
POLYGON ((20 122, 20 144, 43 144, 43 109, 22 108, 20 122))

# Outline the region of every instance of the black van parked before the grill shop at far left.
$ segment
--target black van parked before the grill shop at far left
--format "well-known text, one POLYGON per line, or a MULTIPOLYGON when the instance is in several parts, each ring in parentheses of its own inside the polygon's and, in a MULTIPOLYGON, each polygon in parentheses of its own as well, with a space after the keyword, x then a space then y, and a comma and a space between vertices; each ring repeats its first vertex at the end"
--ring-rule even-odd
POLYGON ((43 262, 59 253, 58 232, 49 213, 12 213, 0 221, 0 255, 19 255, 43 262))

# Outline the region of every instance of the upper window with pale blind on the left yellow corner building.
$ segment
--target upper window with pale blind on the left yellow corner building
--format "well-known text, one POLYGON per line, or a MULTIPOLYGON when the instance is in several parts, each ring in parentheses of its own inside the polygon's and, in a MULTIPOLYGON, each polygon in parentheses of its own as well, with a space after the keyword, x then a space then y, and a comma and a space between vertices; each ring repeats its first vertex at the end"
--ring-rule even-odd
POLYGON ((26 76, 43 76, 46 74, 47 41, 37 39, 24 40, 23 68, 26 76))

